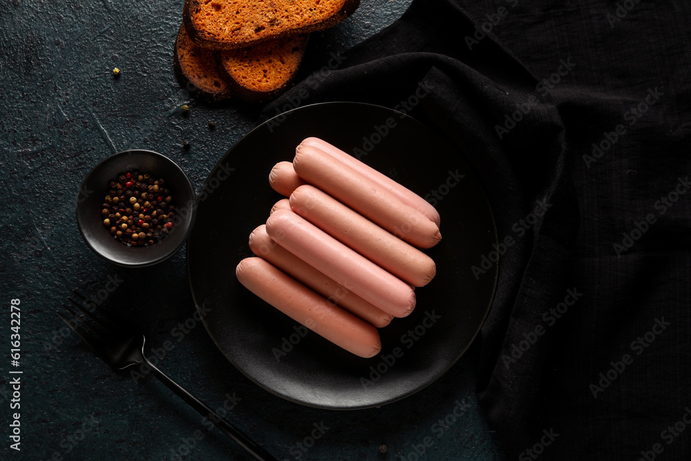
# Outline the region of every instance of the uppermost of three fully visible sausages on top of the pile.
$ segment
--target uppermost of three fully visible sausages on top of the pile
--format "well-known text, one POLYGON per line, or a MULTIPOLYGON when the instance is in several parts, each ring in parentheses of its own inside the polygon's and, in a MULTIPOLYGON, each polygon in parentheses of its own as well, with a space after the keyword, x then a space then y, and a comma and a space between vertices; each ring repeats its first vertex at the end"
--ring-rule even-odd
POLYGON ((348 207, 419 248, 439 243, 439 227, 388 190, 334 159, 320 149, 300 145, 293 168, 306 182, 319 187, 348 207))

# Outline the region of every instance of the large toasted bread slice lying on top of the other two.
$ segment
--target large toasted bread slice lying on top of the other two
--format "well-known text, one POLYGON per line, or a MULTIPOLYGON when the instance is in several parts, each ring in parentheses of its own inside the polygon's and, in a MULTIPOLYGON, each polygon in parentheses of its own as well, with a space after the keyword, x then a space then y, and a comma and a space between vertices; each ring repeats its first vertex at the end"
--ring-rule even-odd
POLYGON ((359 5, 360 0, 186 0, 182 21, 196 44, 234 50, 329 28, 359 5))

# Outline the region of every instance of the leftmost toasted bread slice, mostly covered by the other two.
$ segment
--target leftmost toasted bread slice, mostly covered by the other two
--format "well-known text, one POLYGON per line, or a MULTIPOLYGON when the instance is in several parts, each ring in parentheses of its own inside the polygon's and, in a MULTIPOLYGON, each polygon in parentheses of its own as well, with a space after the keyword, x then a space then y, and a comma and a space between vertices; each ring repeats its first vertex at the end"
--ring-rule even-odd
POLYGON ((178 29, 175 41, 175 72, 180 84, 194 97, 223 100, 231 96, 227 79, 218 73, 216 53, 193 43, 184 26, 178 29))

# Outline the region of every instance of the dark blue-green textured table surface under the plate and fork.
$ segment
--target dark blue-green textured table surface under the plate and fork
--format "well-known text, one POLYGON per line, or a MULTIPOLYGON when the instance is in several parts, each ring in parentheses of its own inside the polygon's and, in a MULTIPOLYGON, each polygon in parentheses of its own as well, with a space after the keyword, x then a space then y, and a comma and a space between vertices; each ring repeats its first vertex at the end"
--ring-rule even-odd
MULTIPOLYGON (((350 46, 395 21, 409 3, 363 2, 347 21, 313 35, 303 68, 319 68, 330 53, 347 57, 350 46)), ((259 106, 199 104, 176 82, 172 47, 181 15, 180 0, 0 3, 2 458, 249 459, 153 377, 118 375, 97 359, 55 314, 79 289, 135 321, 165 373, 213 408, 232 407, 227 418, 276 458, 499 459, 477 408, 470 359, 381 408, 299 406, 249 382, 194 319, 184 249, 136 270, 88 250, 74 203, 82 178, 101 159, 126 149, 158 151, 199 190, 225 151, 258 123, 259 106), (189 117, 181 116, 182 104, 191 107, 189 117), (10 365, 12 299, 21 307, 19 367, 10 365), (10 379, 17 376, 13 397, 10 379), (8 438, 15 412, 20 451, 8 438)))

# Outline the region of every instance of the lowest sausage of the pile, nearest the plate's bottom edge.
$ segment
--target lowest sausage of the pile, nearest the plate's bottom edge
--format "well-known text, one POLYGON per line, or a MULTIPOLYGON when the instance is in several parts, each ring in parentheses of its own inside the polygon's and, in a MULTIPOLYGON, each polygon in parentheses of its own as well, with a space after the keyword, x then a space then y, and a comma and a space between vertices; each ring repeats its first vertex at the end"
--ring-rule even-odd
POLYGON ((329 303, 262 258, 243 259, 235 274, 249 291, 348 352, 369 358, 381 350, 377 328, 329 303))

